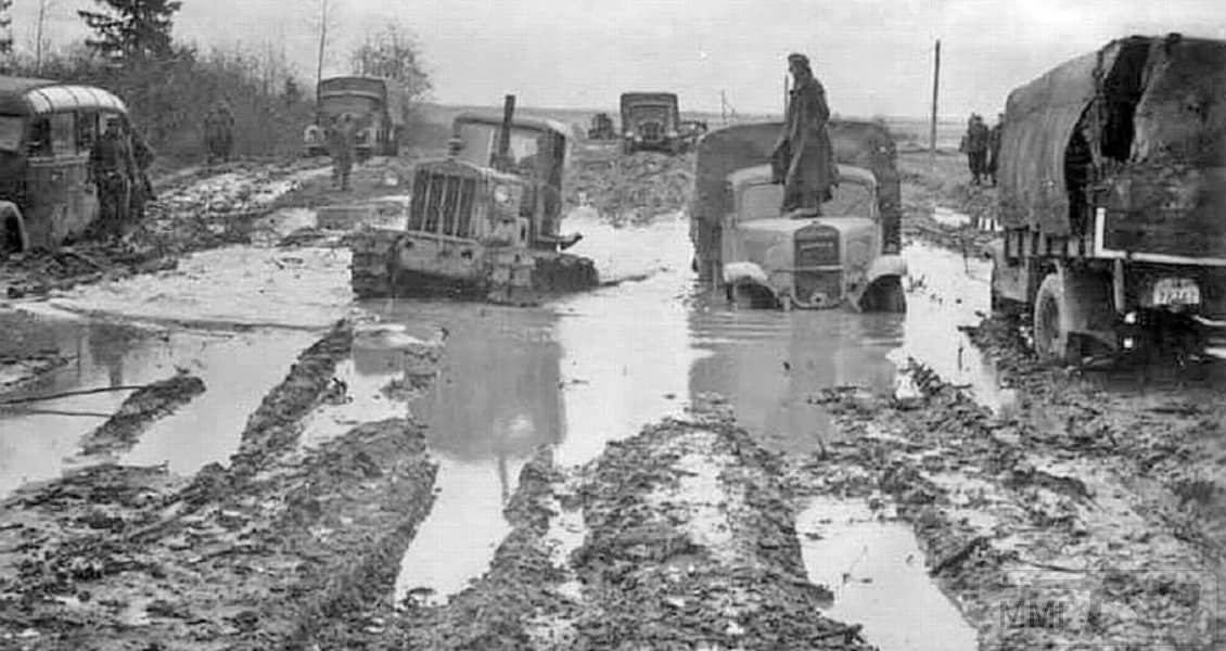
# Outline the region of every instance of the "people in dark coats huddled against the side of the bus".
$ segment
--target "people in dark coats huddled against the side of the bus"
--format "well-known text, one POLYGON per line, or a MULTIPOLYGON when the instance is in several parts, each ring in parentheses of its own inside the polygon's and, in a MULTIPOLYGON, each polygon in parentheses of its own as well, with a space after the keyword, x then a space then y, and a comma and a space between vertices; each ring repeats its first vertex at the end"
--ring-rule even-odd
POLYGON ((121 115, 108 115, 103 132, 89 151, 89 178, 98 188, 99 226, 104 234, 121 235, 145 217, 153 200, 148 169, 153 148, 121 115))

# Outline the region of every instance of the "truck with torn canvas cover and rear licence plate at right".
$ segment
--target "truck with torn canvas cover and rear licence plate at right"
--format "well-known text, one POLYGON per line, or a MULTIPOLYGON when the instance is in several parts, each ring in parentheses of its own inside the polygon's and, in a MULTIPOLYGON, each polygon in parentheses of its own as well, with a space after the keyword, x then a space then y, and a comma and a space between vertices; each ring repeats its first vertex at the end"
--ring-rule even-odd
POLYGON ((1052 362, 1226 329, 1226 42, 1129 37, 1014 89, 992 302, 1052 362))

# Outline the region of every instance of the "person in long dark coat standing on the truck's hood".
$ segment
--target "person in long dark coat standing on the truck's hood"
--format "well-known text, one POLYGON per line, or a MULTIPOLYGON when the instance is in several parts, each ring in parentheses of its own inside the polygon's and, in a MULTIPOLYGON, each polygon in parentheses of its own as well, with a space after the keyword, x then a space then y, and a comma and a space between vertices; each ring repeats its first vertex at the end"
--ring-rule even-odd
POLYGON ((771 157, 774 181, 783 184, 783 213, 802 208, 807 216, 821 215, 821 204, 830 200, 836 184, 826 92, 813 76, 808 56, 790 54, 787 67, 794 83, 771 157))

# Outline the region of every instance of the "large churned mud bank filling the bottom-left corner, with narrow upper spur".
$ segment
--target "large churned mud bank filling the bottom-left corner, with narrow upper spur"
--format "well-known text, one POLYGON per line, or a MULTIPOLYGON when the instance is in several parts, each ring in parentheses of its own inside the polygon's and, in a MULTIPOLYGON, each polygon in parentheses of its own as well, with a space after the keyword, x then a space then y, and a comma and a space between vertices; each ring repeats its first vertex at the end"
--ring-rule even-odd
POLYGON ((351 341, 302 354, 229 467, 101 465, 0 503, 0 646, 305 649, 385 608, 435 466, 407 418, 302 446, 351 341))

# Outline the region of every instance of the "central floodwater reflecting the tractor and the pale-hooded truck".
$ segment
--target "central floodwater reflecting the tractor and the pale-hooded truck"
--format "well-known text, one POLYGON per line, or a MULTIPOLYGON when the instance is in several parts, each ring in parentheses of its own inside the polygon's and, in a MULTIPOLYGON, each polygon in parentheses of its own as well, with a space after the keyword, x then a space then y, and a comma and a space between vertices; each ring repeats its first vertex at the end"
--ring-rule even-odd
MULTIPOLYGON (((436 321, 450 333, 439 381, 412 407, 440 463, 439 501, 405 555, 397 601, 412 590, 443 602, 481 576, 509 532, 501 511, 519 468, 539 445, 577 466, 649 423, 715 407, 769 449, 813 451, 832 427, 810 396, 835 385, 889 392, 900 356, 993 386, 977 358, 962 351, 958 359, 954 326, 977 304, 916 294, 908 315, 738 310, 695 287, 680 217, 568 226, 585 234, 575 253, 595 257, 602 280, 626 281, 530 310, 363 305, 386 321, 436 321)), ((958 271, 962 260, 937 249, 907 254, 934 275, 982 271, 958 271)))

